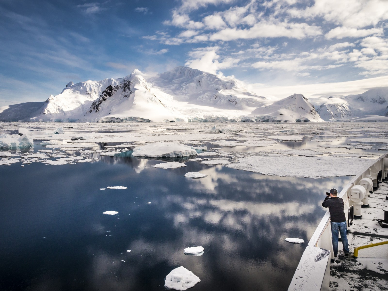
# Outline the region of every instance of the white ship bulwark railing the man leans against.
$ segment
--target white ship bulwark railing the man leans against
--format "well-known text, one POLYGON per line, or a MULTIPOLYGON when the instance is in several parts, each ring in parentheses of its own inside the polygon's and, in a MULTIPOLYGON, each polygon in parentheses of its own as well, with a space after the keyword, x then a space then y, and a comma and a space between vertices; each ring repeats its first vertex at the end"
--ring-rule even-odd
MULTIPOLYGON (((383 171, 382 179, 384 179, 388 174, 388 154, 383 154, 372 162, 365 171, 355 176, 338 194, 338 197, 342 198, 345 203, 346 220, 348 219, 348 209, 353 205, 352 201, 348 199, 350 189, 355 185, 359 185, 360 180, 365 178, 366 175, 372 176, 373 186, 376 187, 375 177, 381 170, 383 171)), ((333 244, 331 243, 330 213, 326 211, 302 254, 288 290, 329 290, 330 259, 334 259, 334 255, 333 244)))

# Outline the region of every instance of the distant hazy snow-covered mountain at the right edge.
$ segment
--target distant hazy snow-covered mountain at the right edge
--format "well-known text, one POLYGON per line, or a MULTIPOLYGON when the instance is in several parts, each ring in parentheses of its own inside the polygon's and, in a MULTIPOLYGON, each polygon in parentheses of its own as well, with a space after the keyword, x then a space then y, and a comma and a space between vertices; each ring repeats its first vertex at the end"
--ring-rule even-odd
POLYGON ((357 95, 331 96, 320 104, 317 112, 325 121, 356 120, 353 118, 366 115, 388 116, 388 87, 373 88, 357 95))

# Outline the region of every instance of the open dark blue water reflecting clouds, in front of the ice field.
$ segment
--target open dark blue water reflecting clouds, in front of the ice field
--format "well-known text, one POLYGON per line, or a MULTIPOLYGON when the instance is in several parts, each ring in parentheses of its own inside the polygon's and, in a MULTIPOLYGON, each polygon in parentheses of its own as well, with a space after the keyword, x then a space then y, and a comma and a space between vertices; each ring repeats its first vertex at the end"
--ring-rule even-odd
POLYGON ((324 192, 350 180, 156 163, 0 166, 0 290, 165 290, 179 266, 201 279, 193 291, 286 290, 324 214, 324 192), (128 189, 99 190, 121 185, 128 189), (204 255, 184 255, 189 246, 204 255))

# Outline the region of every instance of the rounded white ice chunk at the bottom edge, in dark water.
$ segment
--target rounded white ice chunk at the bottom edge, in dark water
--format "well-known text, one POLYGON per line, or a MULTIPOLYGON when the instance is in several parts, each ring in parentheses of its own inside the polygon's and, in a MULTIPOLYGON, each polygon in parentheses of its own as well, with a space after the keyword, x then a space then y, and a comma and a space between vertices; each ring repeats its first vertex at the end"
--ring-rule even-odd
POLYGON ((198 282, 201 282, 201 279, 185 267, 180 266, 166 276, 165 286, 166 288, 183 291, 194 287, 198 282))

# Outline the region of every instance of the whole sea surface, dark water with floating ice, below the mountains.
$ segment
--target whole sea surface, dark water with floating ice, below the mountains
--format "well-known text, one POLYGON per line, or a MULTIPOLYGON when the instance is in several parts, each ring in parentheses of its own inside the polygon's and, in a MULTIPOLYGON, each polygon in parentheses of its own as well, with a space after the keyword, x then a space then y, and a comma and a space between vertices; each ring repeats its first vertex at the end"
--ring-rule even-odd
POLYGON ((0 122, 0 290, 287 290, 325 192, 386 136, 386 123, 0 122))

